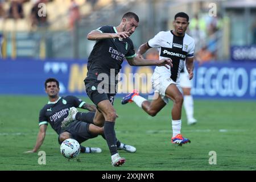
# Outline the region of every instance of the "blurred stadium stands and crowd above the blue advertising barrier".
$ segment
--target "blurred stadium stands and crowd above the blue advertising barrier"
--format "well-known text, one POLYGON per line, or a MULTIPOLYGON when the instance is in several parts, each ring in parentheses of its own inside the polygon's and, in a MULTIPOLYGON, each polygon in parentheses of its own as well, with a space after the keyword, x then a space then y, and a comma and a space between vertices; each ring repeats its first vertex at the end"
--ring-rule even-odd
MULTIPOLYGON (((156 32, 172 29, 174 14, 185 11, 191 18, 188 34, 196 40, 196 60, 225 61, 231 57, 232 46, 256 43, 256 2, 239 2, 0 0, 2 55, 3 58, 86 59, 92 43, 85 40, 85 35, 98 26, 115 25, 125 11, 139 12, 141 27, 132 37, 138 48, 156 32), (209 11, 214 10, 216 13, 210 15, 209 11), (251 15, 254 18, 246 20, 251 15), (239 35, 245 30, 248 35, 239 35)), ((150 51, 147 56, 158 55, 150 51)))

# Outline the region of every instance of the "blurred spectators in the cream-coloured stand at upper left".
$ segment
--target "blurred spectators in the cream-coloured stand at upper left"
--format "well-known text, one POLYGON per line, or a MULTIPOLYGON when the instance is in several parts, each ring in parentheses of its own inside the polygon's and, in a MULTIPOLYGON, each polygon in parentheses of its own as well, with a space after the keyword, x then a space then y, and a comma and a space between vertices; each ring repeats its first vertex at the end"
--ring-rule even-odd
MULTIPOLYGON (((80 11, 84 12, 84 15, 90 13, 97 2, 97 0, 1 0, 0 19, 6 30, 13 30, 15 23, 17 31, 30 31, 34 27, 49 26, 49 22, 54 21, 58 16, 69 14, 69 22, 67 22, 69 24, 63 24, 60 28, 72 27, 73 21, 79 19, 80 11), (85 9, 82 9, 83 6, 86 6, 85 9), (44 7, 47 13, 40 16, 40 10, 43 13, 44 7)), ((104 1, 98 6, 104 6, 104 1)))

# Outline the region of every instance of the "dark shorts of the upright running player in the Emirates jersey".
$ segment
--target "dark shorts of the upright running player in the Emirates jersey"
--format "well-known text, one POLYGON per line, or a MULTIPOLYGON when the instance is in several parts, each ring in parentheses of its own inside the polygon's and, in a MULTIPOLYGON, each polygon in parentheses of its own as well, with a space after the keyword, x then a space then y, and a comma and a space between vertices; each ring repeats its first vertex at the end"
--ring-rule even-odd
POLYGON ((97 90, 99 82, 96 81, 86 81, 85 89, 88 97, 93 103, 98 106, 98 103, 101 101, 109 100, 110 103, 114 104, 115 93, 99 93, 97 90))

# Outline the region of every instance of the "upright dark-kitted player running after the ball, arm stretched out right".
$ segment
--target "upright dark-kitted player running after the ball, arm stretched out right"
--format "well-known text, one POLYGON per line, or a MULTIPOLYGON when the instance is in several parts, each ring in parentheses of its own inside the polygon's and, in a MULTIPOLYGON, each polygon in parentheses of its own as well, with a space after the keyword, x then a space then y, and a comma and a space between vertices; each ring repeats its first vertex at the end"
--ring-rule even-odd
POLYGON ((134 66, 172 66, 171 59, 146 60, 136 57, 133 42, 129 37, 138 26, 138 16, 128 12, 122 16, 117 27, 102 26, 87 35, 89 40, 96 40, 96 44, 88 59, 85 88, 90 100, 97 106, 93 122, 97 126, 104 126, 112 166, 125 163, 125 158, 121 158, 117 152, 114 130, 117 114, 113 107, 118 82, 115 78, 121 69, 123 59, 126 58, 128 63, 134 66), (102 80, 102 77, 108 78, 102 80))

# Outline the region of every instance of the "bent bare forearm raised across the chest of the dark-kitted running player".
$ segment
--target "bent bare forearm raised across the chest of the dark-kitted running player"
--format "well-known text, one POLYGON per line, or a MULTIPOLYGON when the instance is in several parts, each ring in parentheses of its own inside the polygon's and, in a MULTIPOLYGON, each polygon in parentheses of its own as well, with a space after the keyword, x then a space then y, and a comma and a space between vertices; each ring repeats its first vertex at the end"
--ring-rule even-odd
POLYGON ((114 38, 129 38, 129 32, 117 32, 117 33, 102 33, 98 30, 93 30, 87 35, 88 40, 100 40, 100 39, 114 39, 114 38))

